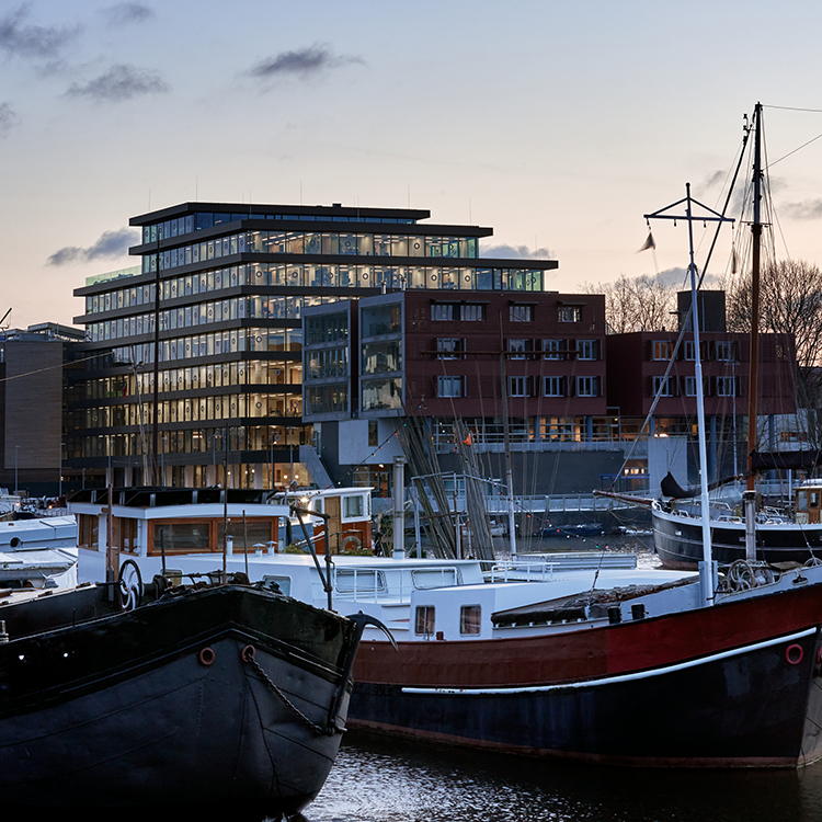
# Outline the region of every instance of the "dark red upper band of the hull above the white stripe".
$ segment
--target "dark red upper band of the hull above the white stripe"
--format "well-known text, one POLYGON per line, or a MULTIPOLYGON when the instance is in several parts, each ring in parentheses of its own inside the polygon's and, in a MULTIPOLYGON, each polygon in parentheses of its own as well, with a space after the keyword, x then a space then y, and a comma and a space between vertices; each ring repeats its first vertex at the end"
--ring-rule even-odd
POLYGON ((423 687, 546 685, 698 659, 822 624, 822 589, 601 628, 475 641, 365 641, 355 681, 423 687))

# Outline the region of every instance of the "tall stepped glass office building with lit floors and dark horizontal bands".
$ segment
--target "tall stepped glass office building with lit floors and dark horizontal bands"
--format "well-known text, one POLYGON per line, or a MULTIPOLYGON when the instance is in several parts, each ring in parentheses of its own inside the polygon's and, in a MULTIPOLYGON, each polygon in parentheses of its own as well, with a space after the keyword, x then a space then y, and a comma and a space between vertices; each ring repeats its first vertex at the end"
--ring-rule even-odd
MULTIPOLYGON (((558 266, 479 258, 490 228, 429 217, 184 203, 132 218, 139 264, 75 292, 88 367, 69 395, 72 467, 117 486, 327 483, 304 418, 305 309, 419 289, 539 295, 558 266)), ((391 389, 374 390, 376 410, 391 389)))

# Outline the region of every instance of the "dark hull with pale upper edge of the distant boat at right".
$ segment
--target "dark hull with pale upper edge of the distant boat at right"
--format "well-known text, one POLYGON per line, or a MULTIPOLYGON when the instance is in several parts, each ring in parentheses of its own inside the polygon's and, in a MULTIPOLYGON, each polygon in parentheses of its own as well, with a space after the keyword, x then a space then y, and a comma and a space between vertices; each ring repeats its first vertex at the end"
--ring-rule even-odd
MULTIPOLYGON (((703 559, 703 524, 695 517, 652 512, 653 543, 665 568, 696 569, 703 559)), ((745 559, 744 522, 710 523, 711 553, 721 564, 745 559)), ((769 563, 822 559, 822 524, 757 525, 756 558, 769 563)))

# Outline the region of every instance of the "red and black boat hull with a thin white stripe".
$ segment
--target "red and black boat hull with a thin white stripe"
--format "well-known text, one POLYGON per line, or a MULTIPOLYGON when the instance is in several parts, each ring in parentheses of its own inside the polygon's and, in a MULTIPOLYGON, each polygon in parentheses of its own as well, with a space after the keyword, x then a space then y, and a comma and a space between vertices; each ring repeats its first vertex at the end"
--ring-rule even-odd
POLYGON ((822 755, 821 621, 822 592, 806 589, 533 639, 400 643, 395 663, 367 642, 350 722, 609 764, 797 767, 822 755))

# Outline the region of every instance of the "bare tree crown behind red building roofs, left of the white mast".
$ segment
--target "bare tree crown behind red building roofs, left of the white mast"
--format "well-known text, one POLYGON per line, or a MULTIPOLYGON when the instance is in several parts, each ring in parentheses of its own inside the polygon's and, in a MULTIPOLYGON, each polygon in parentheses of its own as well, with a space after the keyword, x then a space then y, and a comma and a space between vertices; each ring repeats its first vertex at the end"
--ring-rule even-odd
POLYGON ((660 276, 621 274, 614 283, 583 283, 580 290, 605 295, 605 321, 616 334, 676 330, 676 287, 660 276))

